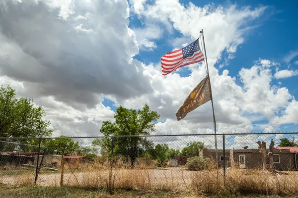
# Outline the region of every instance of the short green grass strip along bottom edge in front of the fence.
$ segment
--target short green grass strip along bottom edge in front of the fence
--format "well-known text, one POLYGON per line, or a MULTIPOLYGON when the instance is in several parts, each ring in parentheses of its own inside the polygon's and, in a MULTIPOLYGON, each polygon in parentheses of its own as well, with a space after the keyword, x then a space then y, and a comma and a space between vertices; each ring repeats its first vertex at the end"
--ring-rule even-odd
MULTIPOLYGON (((114 195, 105 190, 86 190, 70 187, 8 186, 0 185, 0 198, 207 198, 186 192, 117 190, 114 195)), ((224 196, 211 196, 219 198, 224 196)), ((226 198, 294 198, 280 196, 227 196, 226 198)))

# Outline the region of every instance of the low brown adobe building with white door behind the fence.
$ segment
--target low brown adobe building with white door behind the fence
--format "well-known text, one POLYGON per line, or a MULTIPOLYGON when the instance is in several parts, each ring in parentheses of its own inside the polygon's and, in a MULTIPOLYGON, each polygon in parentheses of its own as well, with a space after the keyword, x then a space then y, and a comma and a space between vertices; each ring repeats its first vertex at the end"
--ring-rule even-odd
MULTIPOLYGON (((216 159, 215 149, 203 149, 199 156, 216 159)), ((224 165, 223 150, 218 150, 219 166, 224 165)), ((225 149, 226 167, 262 168, 262 154, 258 148, 225 149)), ((298 147, 275 147, 273 166, 277 170, 298 170, 298 147)))

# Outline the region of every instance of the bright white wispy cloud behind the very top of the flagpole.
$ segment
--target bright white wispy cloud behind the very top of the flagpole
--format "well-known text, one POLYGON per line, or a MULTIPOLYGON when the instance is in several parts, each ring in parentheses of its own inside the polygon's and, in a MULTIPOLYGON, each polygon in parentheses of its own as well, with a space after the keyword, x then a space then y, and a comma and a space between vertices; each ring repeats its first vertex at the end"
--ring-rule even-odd
POLYGON ((187 38, 198 38, 203 29, 208 57, 216 61, 224 49, 230 55, 236 51, 244 41, 243 35, 251 28, 242 26, 260 17, 265 9, 265 6, 250 9, 236 5, 215 7, 213 4, 198 7, 191 2, 184 6, 178 0, 156 0, 139 14, 146 20, 172 23, 187 38), (213 45, 214 41, 217 45, 213 45))

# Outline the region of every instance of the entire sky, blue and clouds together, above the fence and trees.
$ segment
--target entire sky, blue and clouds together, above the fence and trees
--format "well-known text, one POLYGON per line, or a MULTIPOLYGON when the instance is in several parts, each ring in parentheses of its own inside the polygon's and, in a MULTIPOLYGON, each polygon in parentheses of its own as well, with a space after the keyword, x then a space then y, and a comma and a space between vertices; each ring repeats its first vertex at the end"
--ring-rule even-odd
POLYGON ((175 116, 205 77, 203 62, 159 73, 160 56, 203 29, 218 131, 297 131, 297 7, 295 0, 6 0, 0 84, 43 106, 54 136, 100 135, 117 106, 145 103, 160 114, 156 134, 212 133, 211 102, 179 122, 175 116))

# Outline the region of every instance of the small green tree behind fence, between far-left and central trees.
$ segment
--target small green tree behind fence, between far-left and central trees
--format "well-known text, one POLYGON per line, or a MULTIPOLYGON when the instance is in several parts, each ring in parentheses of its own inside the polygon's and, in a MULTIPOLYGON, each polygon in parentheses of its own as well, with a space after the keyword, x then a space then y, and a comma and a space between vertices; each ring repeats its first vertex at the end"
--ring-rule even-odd
POLYGON ((71 138, 66 136, 60 136, 57 139, 46 139, 43 146, 47 147, 48 154, 58 155, 74 155, 78 154, 79 145, 78 142, 74 142, 71 138))

